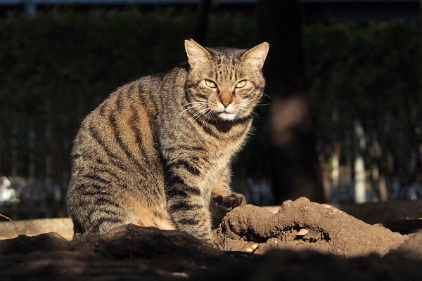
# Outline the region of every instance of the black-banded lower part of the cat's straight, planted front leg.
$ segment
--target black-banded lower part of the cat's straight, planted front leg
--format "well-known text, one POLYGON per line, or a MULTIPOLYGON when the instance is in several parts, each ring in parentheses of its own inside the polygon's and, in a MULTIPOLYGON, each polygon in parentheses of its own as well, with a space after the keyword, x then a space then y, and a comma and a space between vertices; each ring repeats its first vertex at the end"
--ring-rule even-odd
POLYGON ((170 176, 166 186, 167 209, 177 229, 210 242, 210 210, 205 206, 200 188, 188 185, 177 176, 170 176))

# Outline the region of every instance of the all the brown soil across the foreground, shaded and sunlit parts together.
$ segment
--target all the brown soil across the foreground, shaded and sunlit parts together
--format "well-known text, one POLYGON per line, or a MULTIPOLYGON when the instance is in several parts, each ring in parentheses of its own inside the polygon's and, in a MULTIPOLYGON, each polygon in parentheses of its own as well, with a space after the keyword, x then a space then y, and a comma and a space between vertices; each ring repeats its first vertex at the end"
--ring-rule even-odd
POLYGON ((134 225, 72 241, 54 232, 0 240, 0 279, 421 280, 421 228, 421 220, 369 225, 302 197, 276 214, 235 208, 213 244, 134 225))

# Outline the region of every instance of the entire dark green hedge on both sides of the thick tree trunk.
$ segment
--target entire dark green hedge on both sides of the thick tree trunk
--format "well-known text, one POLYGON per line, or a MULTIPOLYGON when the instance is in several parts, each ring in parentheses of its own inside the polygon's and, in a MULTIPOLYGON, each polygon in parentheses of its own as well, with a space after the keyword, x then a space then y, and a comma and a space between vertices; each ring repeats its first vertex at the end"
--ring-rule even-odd
MULTIPOLYGON (((183 41, 191 37, 195 18, 172 9, 41 11, 1 18, 0 174, 11 174, 11 159, 18 157, 18 174, 28 175, 32 128, 37 174, 45 174, 44 155, 52 155, 53 181, 61 184, 69 169, 70 141, 84 115, 117 86, 186 60, 183 41)), ((352 121, 359 119, 369 143, 376 135, 383 152, 403 162, 402 174, 412 171, 407 159, 421 143, 419 27, 400 21, 340 22, 307 25, 303 32, 321 157, 330 155, 333 140, 347 143, 352 121)), ((207 45, 250 47, 258 43, 255 34, 255 19, 248 15, 212 14, 207 45)), ((269 176, 268 165, 257 169, 256 162, 241 161, 264 153, 265 162, 268 151, 256 140, 266 124, 255 126, 253 145, 238 156, 236 163, 243 164, 235 163, 235 173, 242 166, 243 175, 269 176)))

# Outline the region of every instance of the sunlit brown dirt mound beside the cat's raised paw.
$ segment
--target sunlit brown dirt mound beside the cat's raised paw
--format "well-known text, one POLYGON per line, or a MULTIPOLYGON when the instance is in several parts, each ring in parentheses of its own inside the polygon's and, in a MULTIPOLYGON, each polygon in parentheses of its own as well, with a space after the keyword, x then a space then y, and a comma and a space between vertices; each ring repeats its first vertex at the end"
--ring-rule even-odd
POLYGON ((213 233, 224 250, 312 249, 341 256, 386 254, 407 240, 383 226, 371 226, 330 205, 302 197, 286 201, 276 214, 246 205, 224 217, 213 233))

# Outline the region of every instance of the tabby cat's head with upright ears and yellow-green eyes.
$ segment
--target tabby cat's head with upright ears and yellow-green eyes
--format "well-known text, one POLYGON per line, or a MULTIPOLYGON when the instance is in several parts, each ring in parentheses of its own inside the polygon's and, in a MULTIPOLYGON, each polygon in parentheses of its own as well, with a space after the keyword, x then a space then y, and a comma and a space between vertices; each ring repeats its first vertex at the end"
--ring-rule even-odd
POLYGON ((248 117, 262 97, 269 44, 250 50, 203 48, 191 39, 185 48, 191 66, 186 94, 195 116, 229 121, 248 117))

